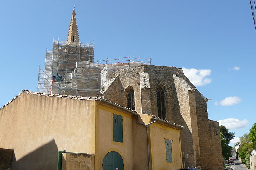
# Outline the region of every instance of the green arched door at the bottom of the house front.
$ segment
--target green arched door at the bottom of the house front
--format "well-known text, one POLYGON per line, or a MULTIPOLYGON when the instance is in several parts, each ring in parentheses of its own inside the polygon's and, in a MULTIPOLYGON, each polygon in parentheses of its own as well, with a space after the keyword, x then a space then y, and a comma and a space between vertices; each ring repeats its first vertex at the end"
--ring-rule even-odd
POLYGON ((103 159, 103 170, 124 170, 124 162, 122 156, 115 152, 108 152, 103 159))

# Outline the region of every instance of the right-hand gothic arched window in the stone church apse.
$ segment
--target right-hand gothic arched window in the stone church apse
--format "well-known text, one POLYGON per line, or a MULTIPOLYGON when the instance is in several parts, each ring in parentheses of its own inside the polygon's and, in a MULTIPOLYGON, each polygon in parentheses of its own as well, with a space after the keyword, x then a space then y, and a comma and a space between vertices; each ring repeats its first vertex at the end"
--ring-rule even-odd
POLYGON ((157 88, 156 96, 157 96, 157 113, 158 113, 158 117, 166 119, 164 90, 163 90, 162 87, 158 87, 157 88))

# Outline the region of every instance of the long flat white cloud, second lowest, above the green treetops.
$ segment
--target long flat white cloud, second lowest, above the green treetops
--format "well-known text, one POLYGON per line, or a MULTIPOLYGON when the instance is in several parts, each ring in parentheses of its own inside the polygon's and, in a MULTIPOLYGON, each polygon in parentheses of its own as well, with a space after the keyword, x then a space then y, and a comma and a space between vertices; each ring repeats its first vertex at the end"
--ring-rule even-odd
POLYGON ((242 129, 247 126, 249 121, 247 119, 244 120, 238 120, 235 118, 228 118, 223 120, 218 120, 219 125, 225 126, 227 129, 242 129))

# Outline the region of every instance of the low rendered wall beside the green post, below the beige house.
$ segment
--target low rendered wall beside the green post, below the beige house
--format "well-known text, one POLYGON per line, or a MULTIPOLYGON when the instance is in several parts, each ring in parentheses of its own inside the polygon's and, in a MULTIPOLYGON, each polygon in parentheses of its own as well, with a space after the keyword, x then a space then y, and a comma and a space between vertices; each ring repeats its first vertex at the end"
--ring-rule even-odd
POLYGON ((94 170, 94 155, 63 153, 61 170, 94 170))

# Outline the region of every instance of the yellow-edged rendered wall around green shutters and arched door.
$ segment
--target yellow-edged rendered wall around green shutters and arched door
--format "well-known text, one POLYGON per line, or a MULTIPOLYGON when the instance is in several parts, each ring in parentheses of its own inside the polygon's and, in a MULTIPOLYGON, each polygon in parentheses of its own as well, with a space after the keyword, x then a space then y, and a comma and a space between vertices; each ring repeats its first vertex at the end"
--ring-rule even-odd
POLYGON ((133 115, 124 110, 97 102, 95 170, 102 170, 103 159, 108 152, 118 152, 124 162, 124 170, 133 169, 133 115), (113 141, 113 113, 123 116, 123 142, 113 141))

